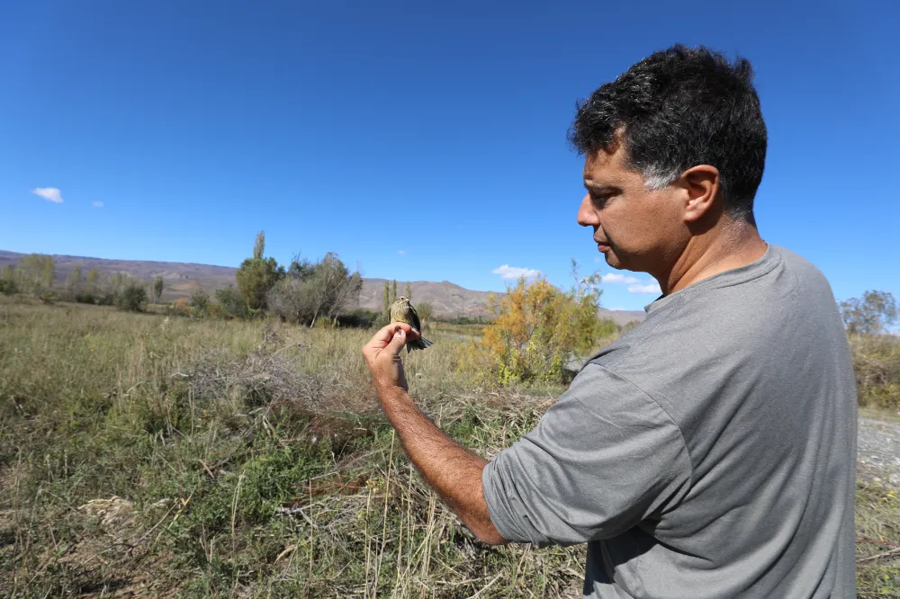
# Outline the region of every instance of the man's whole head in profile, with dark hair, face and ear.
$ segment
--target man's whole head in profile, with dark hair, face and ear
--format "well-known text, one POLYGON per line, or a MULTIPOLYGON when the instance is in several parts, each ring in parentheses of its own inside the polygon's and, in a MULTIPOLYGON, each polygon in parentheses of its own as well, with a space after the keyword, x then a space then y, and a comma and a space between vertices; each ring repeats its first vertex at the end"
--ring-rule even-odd
POLYGON ((579 104, 569 140, 585 156, 588 194, 578 220, 608 264, 656 274, 693 237, 755 225, 767 135, 752 77, 743 58, 677 45, 579 104))

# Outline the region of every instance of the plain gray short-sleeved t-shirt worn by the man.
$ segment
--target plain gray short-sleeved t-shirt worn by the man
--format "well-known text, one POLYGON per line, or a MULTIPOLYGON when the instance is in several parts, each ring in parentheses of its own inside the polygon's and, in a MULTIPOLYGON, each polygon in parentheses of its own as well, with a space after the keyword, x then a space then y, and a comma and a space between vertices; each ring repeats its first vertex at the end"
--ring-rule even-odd
POLYGON ((657 299, 484 469, 509 541, 588 543, 585 597, 855 597, 856 385, 828 282, 763 257, 657 299))

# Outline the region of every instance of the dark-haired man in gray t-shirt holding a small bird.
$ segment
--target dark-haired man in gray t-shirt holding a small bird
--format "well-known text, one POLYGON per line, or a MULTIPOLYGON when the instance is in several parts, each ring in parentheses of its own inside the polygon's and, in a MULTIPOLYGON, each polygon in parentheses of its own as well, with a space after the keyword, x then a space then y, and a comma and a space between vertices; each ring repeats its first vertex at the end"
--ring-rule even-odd
POLYGON ((856 397, 833 294, 753 219, 766 128, 746 60, 675 46, 582 103, 578 222, 662 297, 490 463, 364 348, 422 475, 489 543, 588 543, 585 597, 854 597, 856 397))

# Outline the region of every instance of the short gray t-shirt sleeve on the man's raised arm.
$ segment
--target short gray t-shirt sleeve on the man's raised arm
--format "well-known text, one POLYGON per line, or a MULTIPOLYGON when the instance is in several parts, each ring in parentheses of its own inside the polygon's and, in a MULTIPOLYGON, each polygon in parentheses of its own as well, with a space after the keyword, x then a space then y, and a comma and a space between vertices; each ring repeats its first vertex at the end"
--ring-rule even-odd
POLYGON ((498 532, 543 547, 617 536, 676 505, 690 478, 662 407, 588 364, 535 430, 488 463, 482 485, 498 532))

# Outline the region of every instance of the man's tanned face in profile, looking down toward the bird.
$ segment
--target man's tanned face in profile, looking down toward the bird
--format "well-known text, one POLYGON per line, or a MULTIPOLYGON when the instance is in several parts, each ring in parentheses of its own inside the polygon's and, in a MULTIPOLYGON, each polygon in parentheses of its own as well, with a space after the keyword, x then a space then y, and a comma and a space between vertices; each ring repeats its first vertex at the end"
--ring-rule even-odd
POLYGON ((658 273, 684 233, 675 191, 648 189, 644 176, 624 165, 623 144, 585 156, 587 193, 578 223, 594 229, 594 241, 617 269, 658 273))

